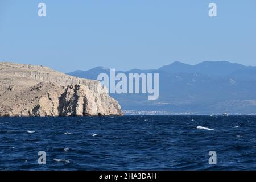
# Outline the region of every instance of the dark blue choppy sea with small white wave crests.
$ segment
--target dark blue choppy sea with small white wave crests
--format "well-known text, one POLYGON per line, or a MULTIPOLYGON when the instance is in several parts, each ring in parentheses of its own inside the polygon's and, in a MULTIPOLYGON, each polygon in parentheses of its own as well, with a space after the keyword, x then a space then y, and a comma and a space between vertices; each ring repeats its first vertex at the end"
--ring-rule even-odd
POLYGON ((255 170, 256 117, 0 118, 0 169, 255 170))

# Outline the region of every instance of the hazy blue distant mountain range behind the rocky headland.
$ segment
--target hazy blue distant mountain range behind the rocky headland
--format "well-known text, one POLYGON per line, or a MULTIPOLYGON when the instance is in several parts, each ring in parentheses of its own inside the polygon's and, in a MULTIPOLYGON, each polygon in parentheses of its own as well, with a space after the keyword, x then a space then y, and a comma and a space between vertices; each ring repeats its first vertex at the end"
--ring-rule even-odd
MULTIPOLYGON (((68 75, 97 80, 110 69, 96 67, 68 75)), ((164 113, 230 114, 256 113, 256 67, 204 61, 189 65, 175 61, 159 69, 116 71, 116 73, 159 73, 159 98, 146 94, 110 94, 123 110, 163 111, 164 113)))

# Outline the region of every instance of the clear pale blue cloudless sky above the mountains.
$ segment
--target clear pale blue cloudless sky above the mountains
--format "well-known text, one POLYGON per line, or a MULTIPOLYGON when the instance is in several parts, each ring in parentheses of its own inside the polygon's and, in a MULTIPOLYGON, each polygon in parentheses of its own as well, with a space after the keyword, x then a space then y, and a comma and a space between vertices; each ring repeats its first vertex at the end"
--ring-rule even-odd
POLYGON ((256 1, 0 0, 0 60, 61 72, 173 61, 256 65, 256 1), (38 3, 46 3, 46 17, 38 3), (217 4, 217 17, 208 15, 217 4))

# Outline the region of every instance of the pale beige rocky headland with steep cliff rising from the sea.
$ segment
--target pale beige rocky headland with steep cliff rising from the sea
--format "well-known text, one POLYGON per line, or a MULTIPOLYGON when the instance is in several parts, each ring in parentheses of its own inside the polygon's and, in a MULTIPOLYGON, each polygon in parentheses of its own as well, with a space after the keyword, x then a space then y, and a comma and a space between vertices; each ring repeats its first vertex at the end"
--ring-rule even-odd
POLYGON ((123 115, 99 81, 0 62, 0 116, 123 115))

